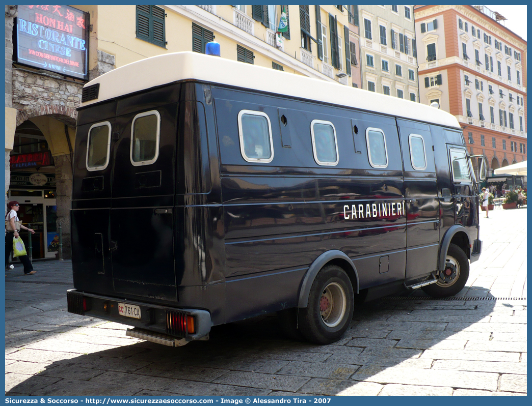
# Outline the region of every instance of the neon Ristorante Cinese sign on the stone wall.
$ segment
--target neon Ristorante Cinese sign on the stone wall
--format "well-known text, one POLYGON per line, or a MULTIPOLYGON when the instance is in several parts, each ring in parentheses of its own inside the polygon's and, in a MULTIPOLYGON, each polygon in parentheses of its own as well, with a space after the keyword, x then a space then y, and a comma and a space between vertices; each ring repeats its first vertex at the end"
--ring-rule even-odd
POLYGON ((15 60, 88 79, 89 14, 65 5, 19 6, 15 60))

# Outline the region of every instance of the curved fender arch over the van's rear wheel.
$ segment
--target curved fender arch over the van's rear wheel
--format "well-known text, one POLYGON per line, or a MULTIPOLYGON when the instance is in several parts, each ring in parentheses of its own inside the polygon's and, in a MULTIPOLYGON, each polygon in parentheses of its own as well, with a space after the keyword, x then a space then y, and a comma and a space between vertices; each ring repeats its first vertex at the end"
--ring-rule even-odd
POLYGON ((299 297, 297 300, 297 307, 306 307, 307 303, 309 302, 309 294, 310 289, 312 287, 312 283, 314 282, 314 279, 316 275, 318 275, 318 272, 320 272, 321 268, 323 266, 327 265, 331 261, 338 261, 338 264, 342 268, 351 267, 351 269, 345 269, 347 272, 347 275, 350 277, 351 282, 356 284, 356 293, 359 293, 359 274, 356 272, 355 264, 353 264, 353 261, 351 258, 349 258, 344 252, 339 250, 330 250, 323 252, 318 258, 314 260, 314 262, 311 264, 309 269, 307 270, 305 277, 303 278, 303 282, 301 284, 301 289, 299 293, 299 297), (347 265, 346 265, 347 264, 347 265), (350 272, 351 270, 351 272, 350 272), (353 277, 355 280, 353 280, 353 277))

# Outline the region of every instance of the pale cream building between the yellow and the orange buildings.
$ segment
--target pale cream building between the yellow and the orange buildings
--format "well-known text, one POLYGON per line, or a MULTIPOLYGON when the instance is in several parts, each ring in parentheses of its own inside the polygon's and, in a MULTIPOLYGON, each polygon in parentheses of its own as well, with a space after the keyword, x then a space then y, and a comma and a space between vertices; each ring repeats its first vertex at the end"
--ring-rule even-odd
POLYGON ((358 6, 362 88, 419 102, 414 6, 358 6))

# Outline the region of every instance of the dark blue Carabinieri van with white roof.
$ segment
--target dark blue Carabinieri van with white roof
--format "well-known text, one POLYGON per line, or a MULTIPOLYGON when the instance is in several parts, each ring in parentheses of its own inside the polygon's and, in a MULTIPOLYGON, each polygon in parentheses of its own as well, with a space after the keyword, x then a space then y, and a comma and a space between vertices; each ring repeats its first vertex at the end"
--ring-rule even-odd
POLYGON ((177 53, 87 83, 70 312, 167 345, 279 312, 315 343, 355 303, 458 293, 477 182, 455 117, 340 84, 177 53))

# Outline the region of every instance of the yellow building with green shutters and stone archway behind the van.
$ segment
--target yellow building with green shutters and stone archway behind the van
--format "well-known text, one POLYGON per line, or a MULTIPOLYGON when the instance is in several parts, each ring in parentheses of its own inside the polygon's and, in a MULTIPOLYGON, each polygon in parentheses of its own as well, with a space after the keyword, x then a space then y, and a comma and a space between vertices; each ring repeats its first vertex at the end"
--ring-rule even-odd
POLYGON ((36 229, 34 258, 57 253, 56 220, 70 256, 76 108, 88 80, 155 55, 204 53, 214 39, 223 58, 345 86, 355 71, 360 83, 346 6, 12 5, 5 27, 6 200, 21 202, 36 229), (288 30, 277 35, 283 9, 288 30))

